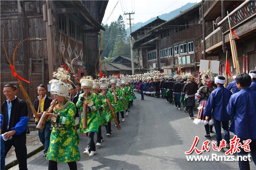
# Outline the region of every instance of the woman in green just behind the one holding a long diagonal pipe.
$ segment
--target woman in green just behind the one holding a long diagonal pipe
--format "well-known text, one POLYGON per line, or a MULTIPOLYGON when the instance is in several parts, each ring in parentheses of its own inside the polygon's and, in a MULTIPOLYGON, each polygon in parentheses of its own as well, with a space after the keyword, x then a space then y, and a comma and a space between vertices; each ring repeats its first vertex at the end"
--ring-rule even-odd
POLYGON ((114 95, 114 93, 113 93, 114 90, 116 92, 115 112, 116 112, 116 117, 118 119, 118 123, 120 124, 119 112, 121 113, 122 121, 124 121, 124 109, 123 109, 123 106, 122 106, 122 100, 124 98, 124 92, 116 87, 116 83, 117 83, 116 79, 114 79, 114 78, 110 79, 111 88, 109 88, 108 92, 110 92, 112 95, 114 95))

